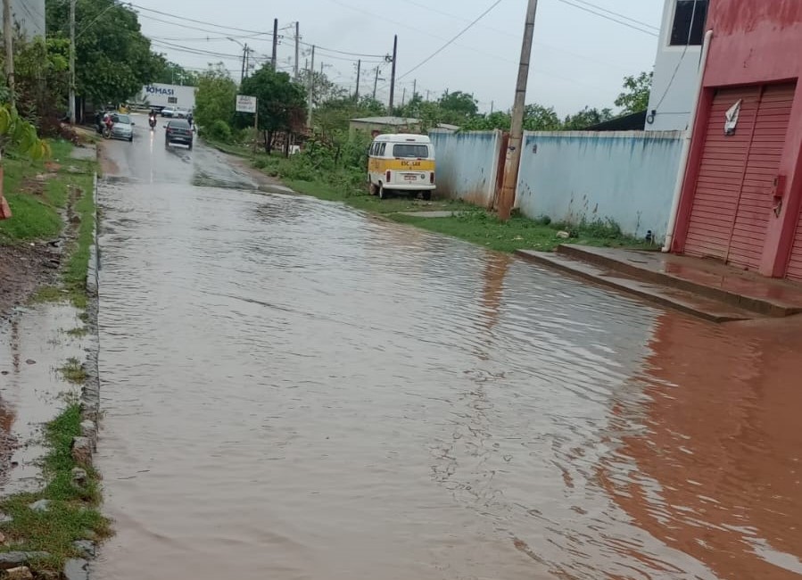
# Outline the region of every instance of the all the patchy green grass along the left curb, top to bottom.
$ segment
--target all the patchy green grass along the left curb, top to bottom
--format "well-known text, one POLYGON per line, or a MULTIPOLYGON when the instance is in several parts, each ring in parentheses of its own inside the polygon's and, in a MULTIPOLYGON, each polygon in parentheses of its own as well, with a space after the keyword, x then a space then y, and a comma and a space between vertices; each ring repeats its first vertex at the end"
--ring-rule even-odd
MULTIPOLYGON (((62 236, 61 284, 40 288, 35 300, 69 299, 76 307, 87 307, 89 249, 95 228, 94 161, 70 158, 73 145, 51 144, 52 156, 44 162, 6 157, 4 192, 12 205, 13 218, 0 222, 0 244, 23 244, 62 236)), ((83 336, 86 328, 67 331, 83 336)), ((72 384, 83 384, 86 370, 79 360, 67 360, 62 376, 72 384)), ((79 402, 68 400, 66 408, 45 427, 48 452, 43 463, 46 485, 38 493, 19 493, 0 500, 0 511, 9 521, 0 524, 5 542, 0 551, 45 551, 50 557, 32 562, 37 571, 60 571, 66 559, 79 557, 77 540, 103 539, 111 533, 110 522, 98 506, 100 478, 91 466, 79 465, 72 457, 74 437, 81 435, 79 402), (74 481, 73 468, 87 477, 74 481), (49 501, 46 510, 31 510, 37 501, 49 501)))

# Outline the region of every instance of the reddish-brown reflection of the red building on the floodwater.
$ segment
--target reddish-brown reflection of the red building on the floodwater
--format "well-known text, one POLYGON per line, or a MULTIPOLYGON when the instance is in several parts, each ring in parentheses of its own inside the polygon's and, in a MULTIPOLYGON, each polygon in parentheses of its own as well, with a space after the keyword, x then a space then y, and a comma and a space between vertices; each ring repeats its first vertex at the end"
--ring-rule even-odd
POLYGON ((663 315, 638 377, 649 401, 617 409, 630 432, 601 482, 716 577, 802 575, 800 330, 761 336, 663 315))

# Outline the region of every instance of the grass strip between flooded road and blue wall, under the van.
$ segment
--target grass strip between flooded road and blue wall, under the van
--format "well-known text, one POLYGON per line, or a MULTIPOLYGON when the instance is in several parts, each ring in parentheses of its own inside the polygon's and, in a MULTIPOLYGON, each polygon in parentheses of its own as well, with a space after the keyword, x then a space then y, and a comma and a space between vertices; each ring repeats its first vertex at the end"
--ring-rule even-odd
MULTIPOLYGON (((384 217, 428 229, 440 234, 459 237, 499 252, 538 250, 551 252, 559 244, 584 244, 604 247, 647 248, 644 240, 625 236, 610 220, 584 221, 579 224, 551 223, 548 219, 531 220, 516 214, 507 222, 496 218, 492 211, 458 200, 437 199, 431 202, 407 197, 380 200, 368 195, 366 176, 360 170, 316 170, 313 163, 301 155, 285 159, 280 155, 252 153, 239 145, 212 145, 225 153, 251 159, 253 167, 269 176, 279 178, 299 194, 318 199, 343 202, 351 207, 384 215, 384 217), (452 211, 443 218, 407 215, 409 212, 452 211), (558 236, 566 232, 569 237, 558 236)), ((565 235, 565 234, 564 234, 565 235)))

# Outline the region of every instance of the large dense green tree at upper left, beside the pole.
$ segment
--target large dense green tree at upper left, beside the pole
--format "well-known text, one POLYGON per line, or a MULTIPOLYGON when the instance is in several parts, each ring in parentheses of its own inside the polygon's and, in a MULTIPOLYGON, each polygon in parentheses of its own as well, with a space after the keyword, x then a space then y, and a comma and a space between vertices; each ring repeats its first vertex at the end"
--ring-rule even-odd
MULTIPOLYGON (((69 38, 70 0, 46 0, 47 35, 69 38)), ((153 81, 162 60, 136 12, 113 0, 77 0, 76 90, 95 104, 120 103, 153 81)))

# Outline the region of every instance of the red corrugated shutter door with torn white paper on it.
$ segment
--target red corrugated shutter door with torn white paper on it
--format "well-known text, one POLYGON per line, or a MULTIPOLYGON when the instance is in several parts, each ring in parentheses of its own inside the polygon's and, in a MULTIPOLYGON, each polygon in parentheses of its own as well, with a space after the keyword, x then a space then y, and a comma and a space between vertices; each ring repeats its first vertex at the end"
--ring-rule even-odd
POLYGON ((759 267, 795 91, 796 85, 788 84, 716 93, 685 253, 759 267), (727 136, 725 114, 739 100, 738 127, 727 136))

